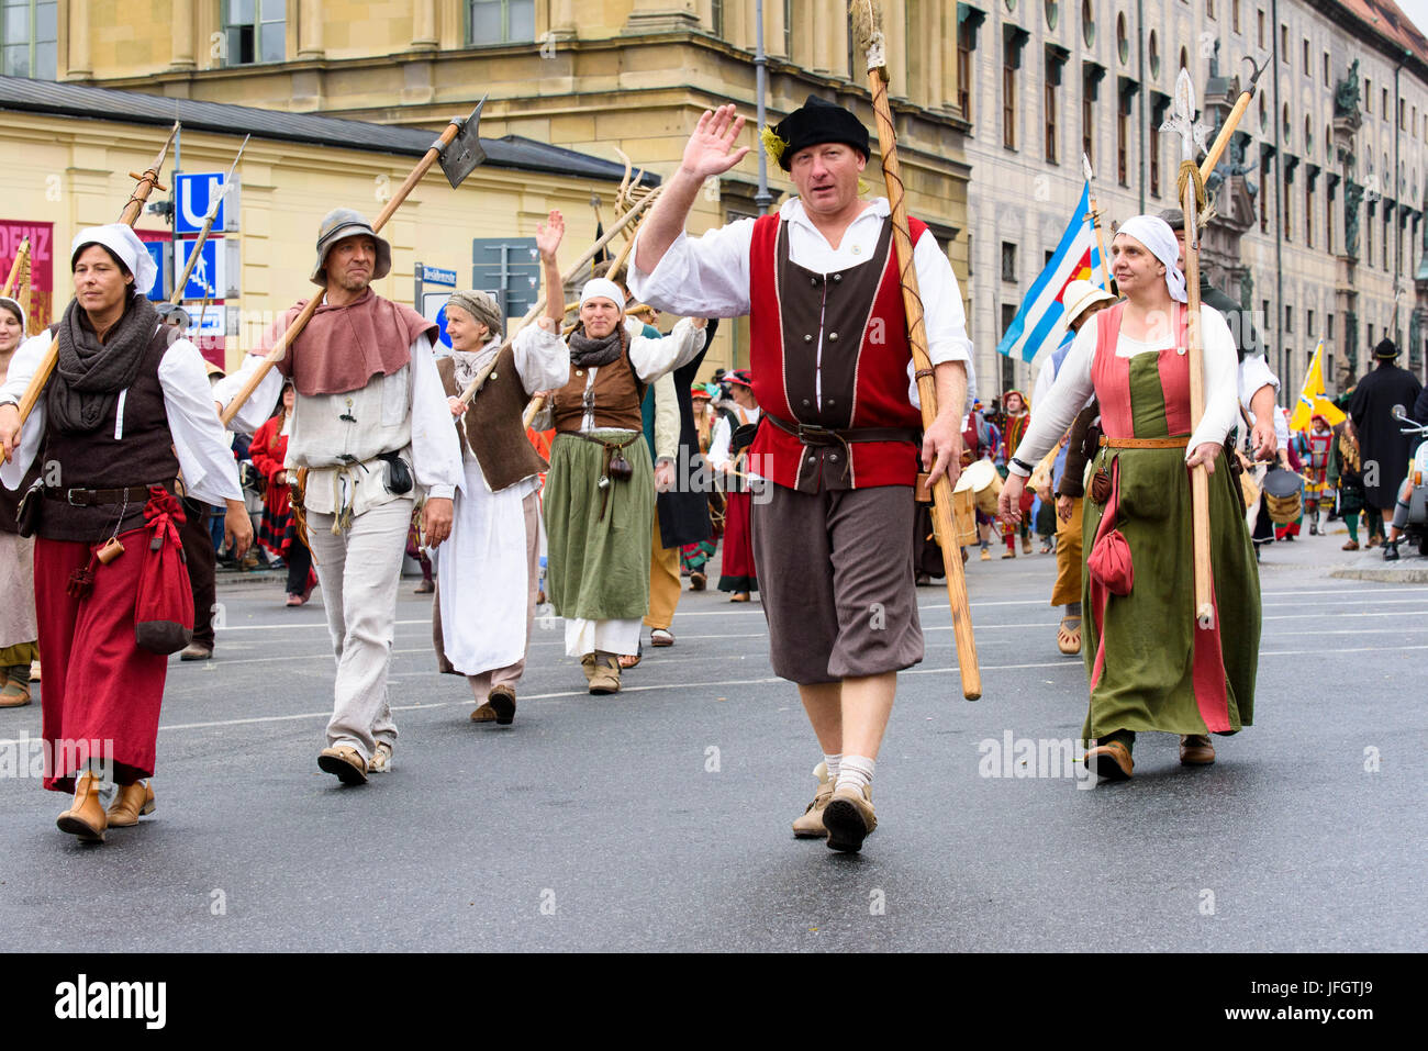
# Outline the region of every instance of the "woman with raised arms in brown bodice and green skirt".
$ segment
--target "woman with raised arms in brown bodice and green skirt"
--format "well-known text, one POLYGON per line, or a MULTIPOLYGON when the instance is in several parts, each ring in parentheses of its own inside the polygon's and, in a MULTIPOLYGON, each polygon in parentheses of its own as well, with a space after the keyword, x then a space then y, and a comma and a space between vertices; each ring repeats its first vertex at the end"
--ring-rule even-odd
MULTIPOLYGON (((541 253, 547 307, 516 348, 558 340, 564 317, 555 253, 541 253)), ((654 464, 644 443, 645 388, 704 347, 704 318, 665 338, 631 336, 624 293, 607 278, 580 293, 570 377, 550 398, 555 441, 545 476, 547 594, 565 618, 565 653, 580 657, 593 694, 620 691, 620 655, 640 650, 650 610, 654 464)))

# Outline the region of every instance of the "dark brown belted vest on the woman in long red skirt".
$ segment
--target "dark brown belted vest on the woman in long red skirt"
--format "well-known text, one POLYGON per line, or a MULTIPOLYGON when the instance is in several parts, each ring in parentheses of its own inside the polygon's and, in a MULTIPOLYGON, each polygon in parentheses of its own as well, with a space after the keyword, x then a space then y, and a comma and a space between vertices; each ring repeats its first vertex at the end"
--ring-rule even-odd
MULTIPOLYGON (((167 326, 160 326, 139 374, 120 401, 114 416, 87 434, 67 434, 47 416, 44 440, 40 444, 40 471, 54 488, 126 488, 130 486, 163 486, 170 493, 178 476, 164 390, 159 383, 159 363, 169 350, 167 326), (123 413, 123 430, 114 437, 116 417, 123 413)), ((59 500, 40 504, 39 534, 46 540, 79 540, 99 543, 114 531, 134 530, 144 524, 144 501, 71 507, 59 500), (120 511, 123 520, 120 521, 120 511)))

